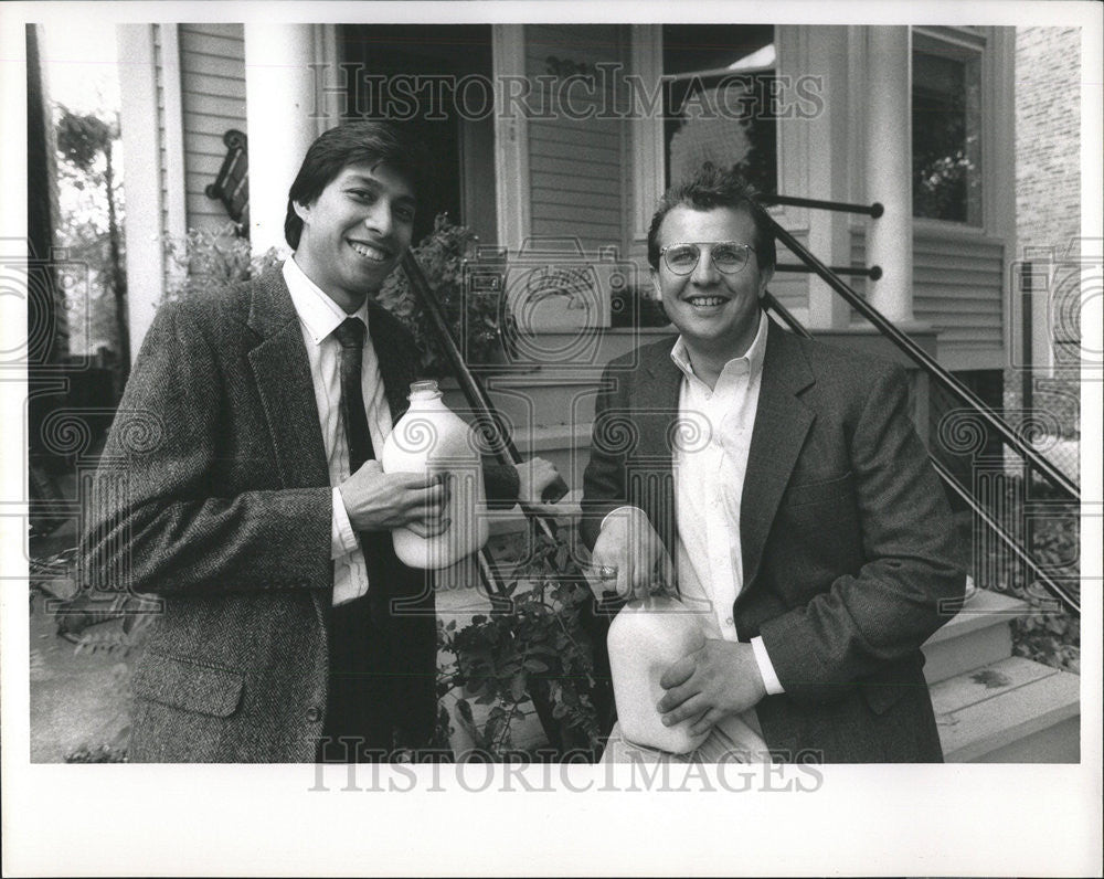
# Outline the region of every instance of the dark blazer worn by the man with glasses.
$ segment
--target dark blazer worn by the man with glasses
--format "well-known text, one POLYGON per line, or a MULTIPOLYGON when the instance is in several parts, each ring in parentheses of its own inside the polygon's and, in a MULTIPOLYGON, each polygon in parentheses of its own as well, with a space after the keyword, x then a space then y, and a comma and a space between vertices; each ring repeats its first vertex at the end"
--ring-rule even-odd
MULTIPOLYGON (((631 504, 673 558, 673 343, 606 371, 585 474, 591 547, 602 517, 631 504)), ((762 635, 786 690, 757 706, 767 745, 832 762, 941 761, 920 647, 965 574, 904 371, 772 322, 740 531, 733 618, 742 640, 762 635)))

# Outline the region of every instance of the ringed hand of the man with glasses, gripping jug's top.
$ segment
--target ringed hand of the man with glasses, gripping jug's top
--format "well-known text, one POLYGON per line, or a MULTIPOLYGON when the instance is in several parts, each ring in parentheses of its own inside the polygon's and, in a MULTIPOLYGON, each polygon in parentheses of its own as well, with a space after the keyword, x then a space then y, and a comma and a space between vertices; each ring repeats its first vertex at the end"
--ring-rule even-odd
POLYGON ((594 541, 591 564, 617 570, 616 581, 591 582, 591 591, 602 599, 602 590, 615 586, 622 597, 645 599, 656 590, 657 581, 675 584, 675 565, 664 541, 651 527, 644 510, 623 507, 606 517, 594 541))

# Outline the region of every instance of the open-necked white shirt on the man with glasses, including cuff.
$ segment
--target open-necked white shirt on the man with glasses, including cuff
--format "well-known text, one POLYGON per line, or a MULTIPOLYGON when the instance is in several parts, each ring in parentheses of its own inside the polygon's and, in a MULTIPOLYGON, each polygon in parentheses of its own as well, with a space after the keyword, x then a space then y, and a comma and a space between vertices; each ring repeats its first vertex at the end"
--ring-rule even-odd
MULTIPOLYGON (((683 374, 679 419, 692 428, 676 443, 676 571, 683 603, 699 607, 705 636, 737 640, 733 605, 743 589, 740 502, 752 428, 758 409, 768 318, 760 315, 755 339, 743 357, 724 364, 712 390, 694 373, 680 336, 671 360, 683 374)), ((752 638, 768 693, 783 692, 761 637, 752 638)))

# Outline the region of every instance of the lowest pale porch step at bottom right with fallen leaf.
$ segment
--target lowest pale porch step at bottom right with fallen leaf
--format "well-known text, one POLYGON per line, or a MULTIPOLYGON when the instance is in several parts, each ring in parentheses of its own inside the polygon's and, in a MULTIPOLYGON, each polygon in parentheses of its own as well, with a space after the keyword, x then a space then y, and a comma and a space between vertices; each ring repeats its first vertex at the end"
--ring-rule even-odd
POLYGON ((1018 656, 932 687, 948 763, 1075 763, 1081 678, 1018 656))

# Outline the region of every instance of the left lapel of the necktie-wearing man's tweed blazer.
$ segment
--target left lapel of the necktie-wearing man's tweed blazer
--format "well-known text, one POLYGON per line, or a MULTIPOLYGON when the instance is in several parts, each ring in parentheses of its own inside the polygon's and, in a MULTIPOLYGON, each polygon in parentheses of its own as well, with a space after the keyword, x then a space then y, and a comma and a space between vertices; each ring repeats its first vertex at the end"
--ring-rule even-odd
POLYGON ((255 283, 248 324, 262 339, 248 358, 280 478, 288 488, 329 485, 302 330, 278 267, 255 283))

